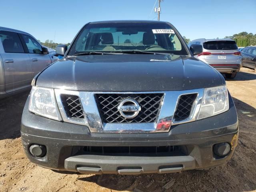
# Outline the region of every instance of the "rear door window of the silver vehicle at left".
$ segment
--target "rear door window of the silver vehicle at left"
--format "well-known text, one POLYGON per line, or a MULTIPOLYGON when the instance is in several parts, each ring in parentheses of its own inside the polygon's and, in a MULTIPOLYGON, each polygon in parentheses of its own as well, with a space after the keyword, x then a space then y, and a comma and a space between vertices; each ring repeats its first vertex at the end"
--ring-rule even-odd
POLYGON ((17 33, 0 31, 0 38, 6 53, 24 53, 24 48, 17 33))

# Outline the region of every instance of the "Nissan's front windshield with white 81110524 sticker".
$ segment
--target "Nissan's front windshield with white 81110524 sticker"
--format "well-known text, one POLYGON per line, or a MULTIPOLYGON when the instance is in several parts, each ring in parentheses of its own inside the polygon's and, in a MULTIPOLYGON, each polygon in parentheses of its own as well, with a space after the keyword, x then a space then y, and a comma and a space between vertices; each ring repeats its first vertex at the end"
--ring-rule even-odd
POLYGON ((188 54, 169 24, 113 22, 86 25, 72 44, 69 55, 85 52, 127 53, 134 50, 178 55, 188 54))

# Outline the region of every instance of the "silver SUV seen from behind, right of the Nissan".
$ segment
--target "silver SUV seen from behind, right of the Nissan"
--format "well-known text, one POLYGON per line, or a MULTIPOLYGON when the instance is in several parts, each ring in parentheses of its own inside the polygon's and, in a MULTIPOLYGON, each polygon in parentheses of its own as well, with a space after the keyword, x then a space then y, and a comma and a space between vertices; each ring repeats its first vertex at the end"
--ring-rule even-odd
POLYGON ((188 43, 203 46, 203 52, 195 57, 224 73, 227 78, 235 78, 241 67, 241 52, 232 39, 196 39, 188 43))

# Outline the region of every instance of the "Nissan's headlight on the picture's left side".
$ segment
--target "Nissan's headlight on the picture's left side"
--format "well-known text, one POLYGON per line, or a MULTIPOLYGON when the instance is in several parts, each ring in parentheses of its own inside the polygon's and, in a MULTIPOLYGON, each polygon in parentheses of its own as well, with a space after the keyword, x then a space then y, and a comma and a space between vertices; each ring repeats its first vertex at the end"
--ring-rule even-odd
POLYGON ((50 119, 62 120, 57 109, 53 89, 32 86, 28 110, 50 119))

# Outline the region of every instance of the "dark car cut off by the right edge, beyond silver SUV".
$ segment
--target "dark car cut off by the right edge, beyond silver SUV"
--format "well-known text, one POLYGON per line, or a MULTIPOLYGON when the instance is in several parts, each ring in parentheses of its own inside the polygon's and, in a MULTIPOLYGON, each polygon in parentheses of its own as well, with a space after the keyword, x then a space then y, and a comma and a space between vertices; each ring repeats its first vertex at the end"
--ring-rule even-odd
POLYGON ((248 46, 242 50, 242 66, 256 70, 256 46, 248 46))

